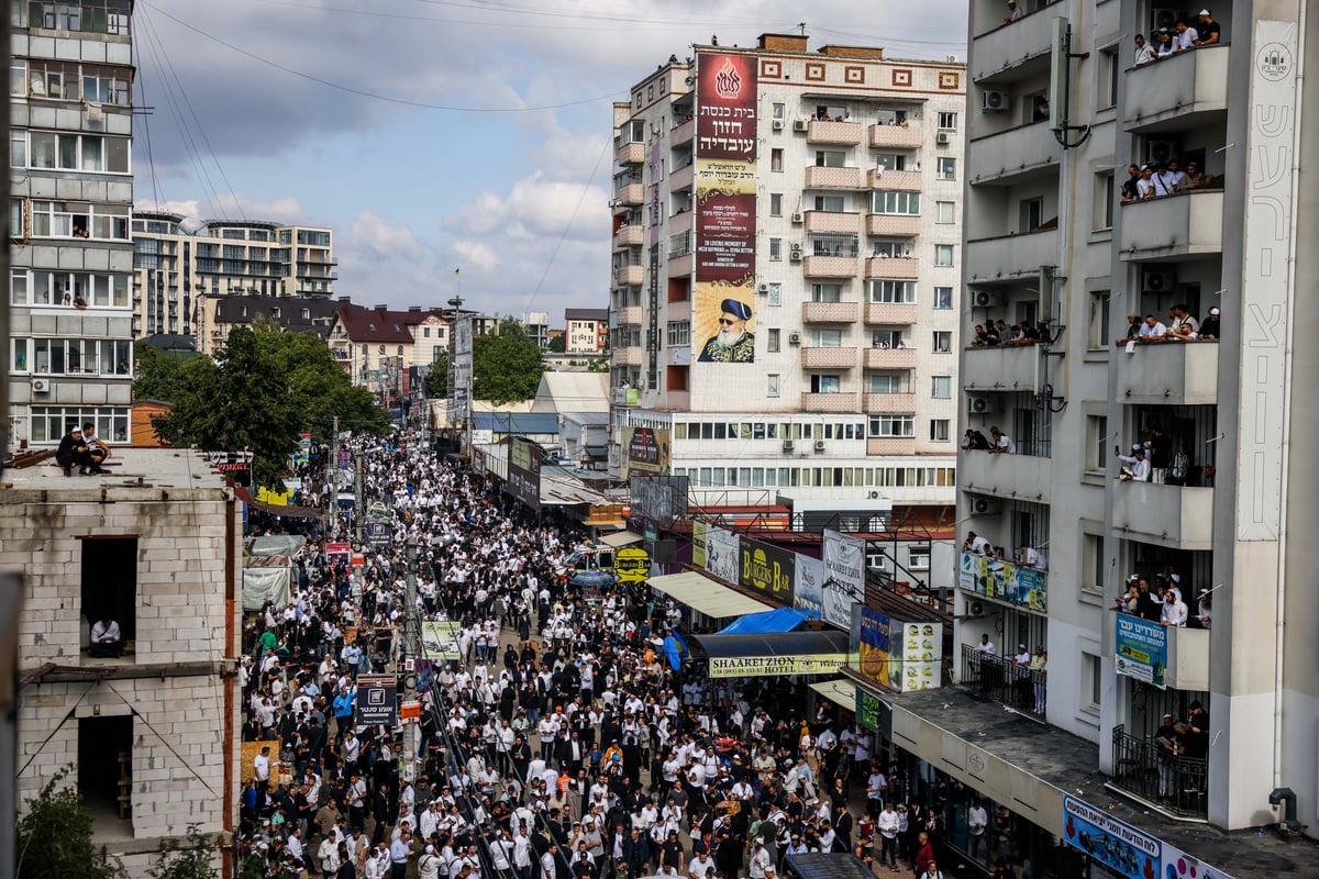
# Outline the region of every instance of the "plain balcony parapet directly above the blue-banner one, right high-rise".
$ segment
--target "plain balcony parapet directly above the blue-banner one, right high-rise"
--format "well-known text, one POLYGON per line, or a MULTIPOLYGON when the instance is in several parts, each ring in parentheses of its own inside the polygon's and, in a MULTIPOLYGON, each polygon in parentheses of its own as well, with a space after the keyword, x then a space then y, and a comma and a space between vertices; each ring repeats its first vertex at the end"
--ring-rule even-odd
POLYGON ((1213 489, 1153 482, 1116 482, 1113 530, 1171 550, 1213 548, 1213 489))

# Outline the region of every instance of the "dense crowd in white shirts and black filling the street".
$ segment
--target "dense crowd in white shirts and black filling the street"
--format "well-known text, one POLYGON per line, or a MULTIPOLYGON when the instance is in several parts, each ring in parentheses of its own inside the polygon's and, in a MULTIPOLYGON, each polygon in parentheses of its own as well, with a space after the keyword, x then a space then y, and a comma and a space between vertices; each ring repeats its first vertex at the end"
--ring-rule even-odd
MULTIPOLYGON (((360 502, 390 505, 393 544, 353 569, 326 551, 348 536, 340 523, 314 531, 288 606, 245 630, 244 739, 261 749, 241 799, 245 863, 270 876, 773 879, 815 850, 942 879, 946 792, 934 803, 909 785, 864 727, 823 701, 807 716, 786 679, 716 685, 674 668, 657 638, 681 614, 644 584, 575 588, 561 576, 570 528, 408 439, 355 451, 360 502), (459 625, 455 656, 415 667, 415 751, 355 717, 357 677, 401 671, 412 614, 459 625)), ((984 812, 963 799, 962 813, 984 812)), ((976 857, 1014 875, 1013 828, 987 817, 971 832, 984 834, 976 857)))

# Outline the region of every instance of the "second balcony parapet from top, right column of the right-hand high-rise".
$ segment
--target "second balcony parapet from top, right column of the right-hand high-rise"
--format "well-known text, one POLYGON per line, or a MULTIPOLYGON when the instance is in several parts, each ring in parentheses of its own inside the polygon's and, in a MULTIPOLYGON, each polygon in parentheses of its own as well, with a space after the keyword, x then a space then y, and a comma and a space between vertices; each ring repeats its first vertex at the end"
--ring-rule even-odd
POLYGON ((1122 260, 1223 253, 1223 190, 1194 190, 1122 206, 1122 260))

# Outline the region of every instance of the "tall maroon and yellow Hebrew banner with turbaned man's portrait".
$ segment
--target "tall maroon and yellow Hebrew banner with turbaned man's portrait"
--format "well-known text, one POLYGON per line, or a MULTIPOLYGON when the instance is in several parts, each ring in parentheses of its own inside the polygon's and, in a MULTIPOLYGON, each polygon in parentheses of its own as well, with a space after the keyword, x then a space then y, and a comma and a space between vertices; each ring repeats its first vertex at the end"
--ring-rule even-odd
POLYGON ((696 53, 696 270, 702 362, 756 360, 756 70, 753 55, 696 53))

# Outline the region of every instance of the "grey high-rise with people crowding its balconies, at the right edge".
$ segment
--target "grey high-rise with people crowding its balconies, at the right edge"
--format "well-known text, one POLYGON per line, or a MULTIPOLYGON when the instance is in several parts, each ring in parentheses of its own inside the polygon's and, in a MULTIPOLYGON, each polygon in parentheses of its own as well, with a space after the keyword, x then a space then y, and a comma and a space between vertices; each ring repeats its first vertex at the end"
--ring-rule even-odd
MULTIPOLYGON (((959 457, 963 536, 1004 557, 962 556, 958 672, 1103 779, 1075 805, 1049 749, 944 730, 917 750, 976 751, 955 775, 985 792, 987 749, 998 789, 1039 791, 1030 821, 1072 845, 1088 808, 1128 818, 1155 841, 1136 872, 1181 833, 1159 816, 1319 826, 1319 600, 1289 542, 1319 525, 1293 445, 1319 423, 1297 344, 1319 327, 1306 7, 971 3, 960 395, 1008 453, 959 457), (1125 601, 1142 582, 1179 600, 1125 601), (1047 679, 985 659, 985 635, 1046 648, 1047 679)), ((1216 866, 1283 870, 1270 857, 1216 866)))

